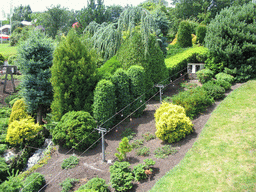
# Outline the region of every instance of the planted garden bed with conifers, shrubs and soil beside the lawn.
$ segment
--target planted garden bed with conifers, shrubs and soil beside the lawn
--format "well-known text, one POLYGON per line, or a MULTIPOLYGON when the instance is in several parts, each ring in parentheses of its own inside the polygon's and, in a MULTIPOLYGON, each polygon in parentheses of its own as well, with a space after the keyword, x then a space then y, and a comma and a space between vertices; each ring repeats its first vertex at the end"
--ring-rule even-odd
POLYGON ((17 93, 10 95, 7 84, 10 92, 1 95, 1 154, 16 155, 1 158, 0 189, 162 188, 157 181, 189 159, 221 101, 255 77, 248 54, 256 50, 254 8, 225 8, 207 26, 181 21, 169 45, 164 27, 140 6, 125 9, 117 23, 94 21, 83 34, 74 28, 55 41, 32 31, 8 59, 22 75, 15 76, 17 93), (216 27, 228 24, 229 30, 216 27), (237 26, 250 37, 236 39, 237 26), (205 63, 198 81, 187 79, 187 63, 205 63), (53 144, 27 168, 48 139, 53 144))

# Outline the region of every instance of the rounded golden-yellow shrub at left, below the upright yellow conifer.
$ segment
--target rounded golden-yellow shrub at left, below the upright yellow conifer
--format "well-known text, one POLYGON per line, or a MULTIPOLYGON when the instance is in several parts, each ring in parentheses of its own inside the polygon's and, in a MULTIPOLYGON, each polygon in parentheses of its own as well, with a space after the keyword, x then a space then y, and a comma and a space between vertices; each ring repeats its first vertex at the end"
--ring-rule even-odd
POLYGON ((39 124, 35 124, 34 119, 31 117, 13 121, 8 126, 6 141, 12 145, 30 141, 41 129, 42 127, 39 124))

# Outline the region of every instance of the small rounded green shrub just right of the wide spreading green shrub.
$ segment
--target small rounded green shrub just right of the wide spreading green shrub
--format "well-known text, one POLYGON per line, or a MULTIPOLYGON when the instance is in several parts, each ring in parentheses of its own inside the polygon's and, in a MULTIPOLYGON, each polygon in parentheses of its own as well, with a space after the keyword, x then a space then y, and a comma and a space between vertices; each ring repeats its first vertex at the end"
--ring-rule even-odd
POLYGON ((214 99, 222 99, 224 97, 225 89, 218 84, 215 84, 215 81, 208 81, 202 86, 214 99))

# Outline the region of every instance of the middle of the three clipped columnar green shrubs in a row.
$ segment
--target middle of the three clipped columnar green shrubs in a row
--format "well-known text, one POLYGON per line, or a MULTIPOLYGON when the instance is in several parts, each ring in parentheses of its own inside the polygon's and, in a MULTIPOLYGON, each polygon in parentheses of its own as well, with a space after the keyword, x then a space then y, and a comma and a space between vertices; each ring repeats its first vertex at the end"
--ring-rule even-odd
POLYGON ((118 115, 118 119, 126 118, 130 114, 130 83, 129 77, 125 70, 117 69, 111 78, 112 83, 115 85, 116 95, 116 111, 121 111, 118 115))

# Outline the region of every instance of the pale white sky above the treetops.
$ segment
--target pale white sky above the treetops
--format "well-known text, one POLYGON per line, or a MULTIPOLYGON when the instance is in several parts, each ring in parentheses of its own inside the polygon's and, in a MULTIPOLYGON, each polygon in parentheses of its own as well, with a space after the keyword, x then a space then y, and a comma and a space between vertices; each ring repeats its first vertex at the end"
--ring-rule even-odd
MULTIPOLYGON (((121 6, 132 4, 136 6, 143 1, 144 0, 104 0, 104 4, 106 6, 114 4, 121 6)), ((5 4, 1 3, 0 5, 0 20, 3 20, 3 11, 5 13, 10 13, 10 4, 12 4, 13 7, 17 7, 19 5, 30 5, 32 12, 43 12, 47 7, 58 4, 60 4, 61 7, 68 8, 69 10, 81 10, 83 7, 87 6, 87 0, 9 0, 5 1, 5 4)))

